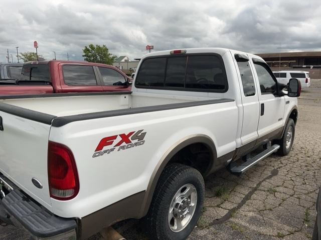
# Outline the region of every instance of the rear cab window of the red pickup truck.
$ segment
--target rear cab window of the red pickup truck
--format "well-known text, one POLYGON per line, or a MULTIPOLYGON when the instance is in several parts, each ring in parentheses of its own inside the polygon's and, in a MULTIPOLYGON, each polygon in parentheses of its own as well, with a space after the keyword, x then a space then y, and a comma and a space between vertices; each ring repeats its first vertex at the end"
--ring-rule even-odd
POLYGON ((23 81, 51 81, 48 64, 23 65, 20 80, 23 81))

